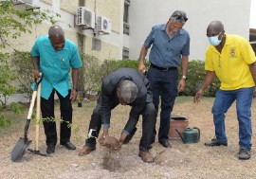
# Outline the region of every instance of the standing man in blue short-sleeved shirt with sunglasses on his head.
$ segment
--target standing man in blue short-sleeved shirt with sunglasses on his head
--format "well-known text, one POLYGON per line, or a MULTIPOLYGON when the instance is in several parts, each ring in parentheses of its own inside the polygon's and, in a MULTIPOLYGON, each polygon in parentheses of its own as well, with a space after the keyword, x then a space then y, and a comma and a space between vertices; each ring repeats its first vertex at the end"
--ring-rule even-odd
MULTIPOLYGON (((190 35, 182 27, 188 20, 186 12, 175 10, 166 24, 152 28, 139 55, 138 69, 145 72, 144 60, 151 47, 149 61, 151 66, 147 77, 153 89, 156 112, 161 97, 160 128, 158 142, 171 148, 169 142, 170 116, 178 92, 184 90, 187 79, 190 55, 190 35), (178 81, 177 68, 181 65, 182 77, 178 81)), ((155 131, 156 135, 156 131, 155 131)), ((155 135, 152 142, 155 141, 155 135)))

